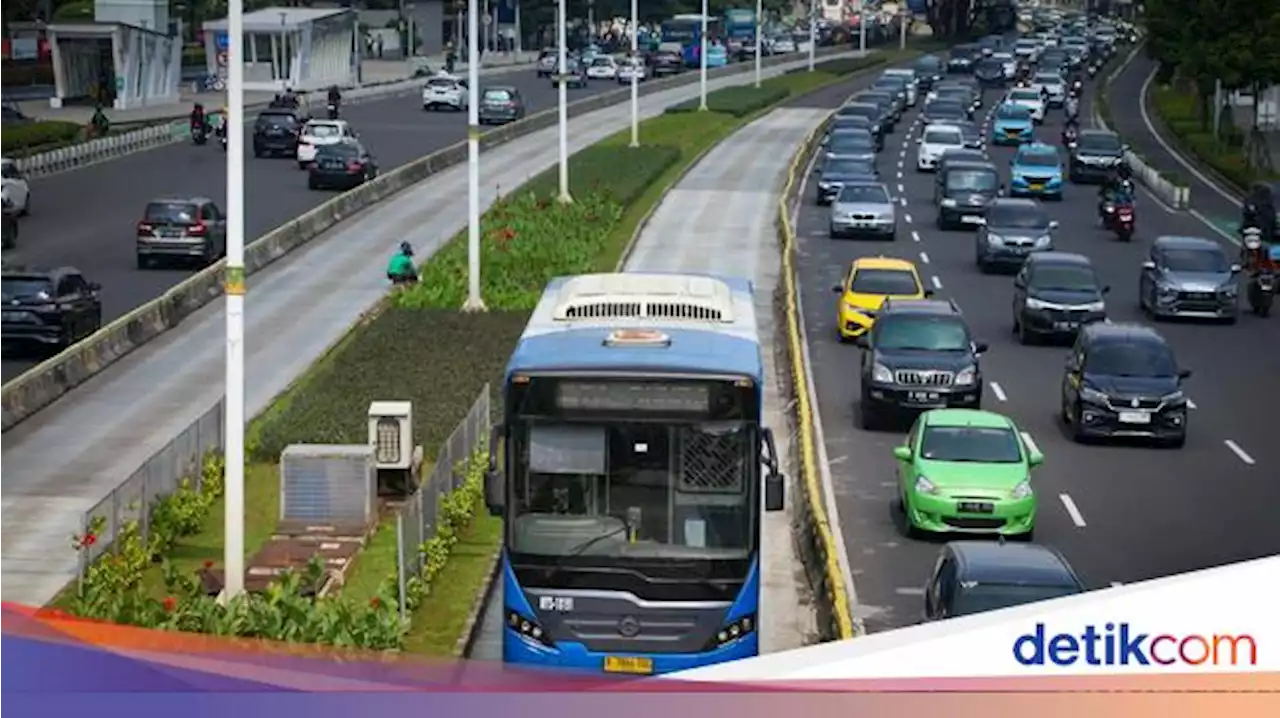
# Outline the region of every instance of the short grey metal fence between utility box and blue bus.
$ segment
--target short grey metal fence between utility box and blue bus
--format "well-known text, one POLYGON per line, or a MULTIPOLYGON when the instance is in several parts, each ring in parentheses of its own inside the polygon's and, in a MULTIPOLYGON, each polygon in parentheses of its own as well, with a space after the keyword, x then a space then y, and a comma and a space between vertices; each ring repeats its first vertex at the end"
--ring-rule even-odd
POLYGON ((466 419, 458 424, 444 445, 435 454, 430 472, 422 472, 422 481, 413 495, 404 502, 396 517, 397 577, 399 582, 401 616, 407 616, 404 587, 408 578, 422 572, 422 544, 435 535, 440 499, 466 480, 466 463, 476 451, 489 443, 490 421, 489 385, 471 404, 466 419))

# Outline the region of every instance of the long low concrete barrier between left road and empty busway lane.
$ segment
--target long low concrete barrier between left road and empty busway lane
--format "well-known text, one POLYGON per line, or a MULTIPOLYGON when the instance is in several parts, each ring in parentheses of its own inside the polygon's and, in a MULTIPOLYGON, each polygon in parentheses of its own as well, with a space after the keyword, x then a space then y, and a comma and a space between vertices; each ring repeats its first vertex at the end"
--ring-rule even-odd
MULTIPOLYGON (((849 52, 847 47, 824 49, 818 52, 827 58, 849 52)), ((771 58, 767 67, 803 63, 795 56, 771 58)), ((745 74, 754 69, 750 63, 739 63, 716 72, 716 77, 745 74)), ((646 82, 640 92, 652 95, 698 82, 698 73, 684 73, 672 78, 646 82)), ((631 90, 618 90, 593 95, 571 102, 570 116, 591 113, 628 101, 631 90)), ((552 127, 558 122, 557 109, 544 110, 527 118, 484 133, 481 145, 495 147, 517 137, 552 127)), ((467 159, 466 142, 458 142, 425 157, 402 165, 376 179, 344 192, 311 211, 264 234, 244 248, 244 270, 252 274, 319 237, 339 221, 379 201, 401 192, 424 179, 467 159)), ((163 296, 104 326, 93 335, 69 347, 52 358, 27 370, 0 387, 0 431, 8 431, 20 421, 55 402, 63 394, 83 384, 93 375, 111 366, 133 349, 177 326, 192 312, 221 294, 221 276, 225 262, 219 261, 166 291, 163 296)))

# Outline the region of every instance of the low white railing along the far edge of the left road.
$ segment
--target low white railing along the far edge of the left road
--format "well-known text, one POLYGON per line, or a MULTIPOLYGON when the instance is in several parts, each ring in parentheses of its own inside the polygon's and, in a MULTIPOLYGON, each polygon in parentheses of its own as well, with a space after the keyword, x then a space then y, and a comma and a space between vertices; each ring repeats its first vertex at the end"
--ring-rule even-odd
MULTIPOLYGON (((499 64, 484 68, 485 70, 499 70, 506 72, 513 68, 524 68, 532 64, 529 63, 511 63, 499 64)), ((461 72, 461 70, 460 70, 461 72)), ((401 92, 410 92, 421 88, 428 77, 411 77, 408 79, 397 79, 378 84, 366 84, 362 87, 353 87, 346 90, 342 93, 342 100, 344 105, 360 104, 369 100, 384 99, 390 95, 398 95, 401 92)), ((310 109, 312 106, 324 106, 323 93, 311 92, 303 95, 303 104, 310 109)), ((247 105, 244 109, 259 110, 266 108, 268 102, 255 102, 253 105, 247 105)), ((221 111, 210 111, 209 116, 211 120, 216 120, 221 116, 221 111)), ((247 122, 247 118, 246 118, 247 122)), ((23 174, 27 177, 45 177, 50 174, 58 174, 60 172, 67 172, 84 165, 91 165, 106 160, 114 160, 124 155, 132 155, 133 152, 141 152, 143 150, 151 150, 155 147, 161 147, 164 145, 173 145, 177 142, 187 142, 191 140, 191 125, 186 119, 175 119, 164 122, 163 124, 154 124, 151 127, 143 127, 141 129, 134 129, 131 132, 124 132, 120 134, 113 134, 108 137, 100 137, 97 140, 90 140, 88 142, 79 142, 77 145, 70 145, 60 150, 50 150, 49 152, 41 152, 38 155, 32 155, 29 157, 22 157, 18 160, 18 168, 22 169, 23 174)))

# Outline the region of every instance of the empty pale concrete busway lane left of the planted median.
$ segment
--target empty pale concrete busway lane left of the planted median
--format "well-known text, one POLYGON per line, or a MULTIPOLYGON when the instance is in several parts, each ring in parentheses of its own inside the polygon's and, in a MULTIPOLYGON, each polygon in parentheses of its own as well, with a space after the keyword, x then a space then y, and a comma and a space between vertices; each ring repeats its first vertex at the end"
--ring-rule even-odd
MULTIPOLYGON (((765 77, 803 61, 765 70, 765 77)), ((750 76, 712 79, 716 90, 750 76)), ((685 86, 640 100, 641 115, 696 97, 685 86)), ((575 120, 573 151, 626 127, 617 105, 575 120)), ((556 163, 556 128, 486 152, 483 206, 556 163)), ((385 292, 383 265, 402 239, 424 257, 466 224, 451 168, 361 212, 250 278, 246 407, 261 411, 385 292)), ((74 571, 67 536, 84 511, 179 435, 223 393, 223 303, 204 307, 45 411, 0 435, 0 600, 42 604, 74 571), (50 451, 58 447, 58 451, 50 451)))

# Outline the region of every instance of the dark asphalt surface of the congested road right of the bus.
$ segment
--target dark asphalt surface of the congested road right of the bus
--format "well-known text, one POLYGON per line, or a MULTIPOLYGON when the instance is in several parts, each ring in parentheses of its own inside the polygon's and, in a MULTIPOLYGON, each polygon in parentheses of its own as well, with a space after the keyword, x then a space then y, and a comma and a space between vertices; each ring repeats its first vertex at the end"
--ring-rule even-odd
MULTIPOLYGON (((979 118, 998 93, 987 92, 986 99, 979 118)), ((1089 110, 1085 99, 1082 116, 1089 116, 1089 110)), ((902 434, 856 427, 859 349, 836 340, 831 288, 859 256, 883 253, 914 261, 940 297, 956 299, 975 337, 991 344, 983 357, 984 408, 1014 417, 1047 457, 1034 479, 1041 506, 1037 540, 1061 549, 1092 587, 1280 552, 1280 523, 1271 512, 1280 489, 1268 481, 1266 468, 1280 459, 1280 447, 1268 440, 1265 413, 1270 407, 1258 404, 1258 397, 1280 392, 1274 358, 1280 334, 1267 326, 1268 320, 1243 316, 1234 326, 1158 325, 1180 363, 1194 371, 1188 381, 1194 410, 1183 449, 1071 443, 1057 421, 1066 348, 1023 347, 1014 340, 1012 279, 977 270, 972 233, 936 229, 933 175, 914 168, 914 115, 899 127, 879 159, 882 177, 904 202, 896 243, 829 239, 826 210, 813 205, 810 187, 805 187, 797 221, 804 321, 823 447, 856 612, 867 628, 919 621, 922 586, 940 544, 906 539, 891 508, 896 493, 891 449, 902 434)), ((1037 136, 1057 143, 1060 134, 1061 111, 1053 110, 1037 136)), ((988 151, 1007 183, 1012 148, 988 151)), ((1094 187, 1069 186, 1062 202, 1047 203, 1061 225, 1055 243, 1093 259, 1111 285, 1112 320, 1146 323, 1137 287, 1151 239, 1216 234, 1143 193, 1138 235, 1133 243, 1120 243, 1096 224, 1096 197, 1094 187)))

